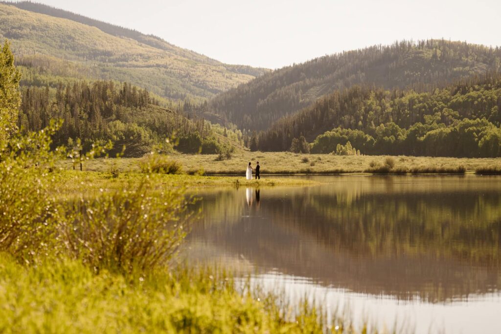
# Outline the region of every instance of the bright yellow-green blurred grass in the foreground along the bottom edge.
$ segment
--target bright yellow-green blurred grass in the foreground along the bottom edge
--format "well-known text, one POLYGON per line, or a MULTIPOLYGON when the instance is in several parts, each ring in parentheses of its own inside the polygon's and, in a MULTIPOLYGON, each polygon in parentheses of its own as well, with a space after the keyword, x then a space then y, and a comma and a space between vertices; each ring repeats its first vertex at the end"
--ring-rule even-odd
MULTIPOLYGON (((95 274, 81 262, 21 265, 0 253, 0 332, 322 332, 313 306, 281 305, 276 296, 236 288, 209 269, 126 277, 95 274), (259 299, 258 299, 259 298, 259 299), (298 311, 297 316, 290 316, 298 311)), ((336 319, 339 331, 350 326, 336 319)))

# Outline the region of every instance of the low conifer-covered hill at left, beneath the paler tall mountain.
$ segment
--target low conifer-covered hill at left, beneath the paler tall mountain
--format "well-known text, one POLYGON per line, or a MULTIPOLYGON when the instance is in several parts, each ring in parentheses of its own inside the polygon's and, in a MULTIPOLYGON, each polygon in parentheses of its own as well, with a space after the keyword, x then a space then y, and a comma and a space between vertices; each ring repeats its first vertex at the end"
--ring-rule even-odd
POLYGON ((160 107, 148 91, 127 83, 80 81, 60 83, 57 89, 22 87, 21 95, 21 129, 39 131, 51 119, 64 121, 53 137, 55 146, 72 147, 80 141, 88 150, 97 141, 111 140, 112 154, 125 146, 125 156, 140 157, 153 145, 172 150, 165 140, 175 136, 175 148, 181 152, 224 153, 231 149, 230 142, 239 143, 242 137, 239 131, 187 118, 189 104, 160 107))

